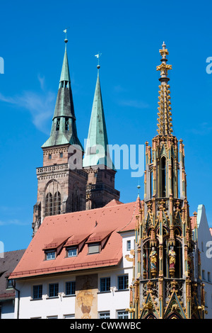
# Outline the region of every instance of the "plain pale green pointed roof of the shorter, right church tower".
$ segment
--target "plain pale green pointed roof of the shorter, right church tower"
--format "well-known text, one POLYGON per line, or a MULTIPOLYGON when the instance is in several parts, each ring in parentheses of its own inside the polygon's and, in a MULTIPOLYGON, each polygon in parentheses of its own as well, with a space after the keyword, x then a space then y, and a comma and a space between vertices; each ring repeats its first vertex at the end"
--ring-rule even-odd
POLYGON ((83 159, 83 166, 105 165, 108 169, 113 169, 114 164, 110 158, 108 150, 107 129, 105 123, 105 113, 102 103, 102 93, 100 88, 100 75, 98 65, 98 77, 95 85, 95 94, 93 98, 93 108, 90 117, 90 126, 88 130, 88 140, 86 153, 83 159))

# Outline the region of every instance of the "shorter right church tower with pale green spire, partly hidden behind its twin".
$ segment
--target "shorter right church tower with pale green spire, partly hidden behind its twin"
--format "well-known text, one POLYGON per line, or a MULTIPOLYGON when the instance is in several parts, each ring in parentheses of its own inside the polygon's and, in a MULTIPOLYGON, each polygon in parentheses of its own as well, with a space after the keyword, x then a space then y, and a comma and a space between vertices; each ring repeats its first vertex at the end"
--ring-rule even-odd
POLYGON ((120 193, 114 188, 116 169, 108 149, 105 113, 100 88, 100 65, 93 98, 88 140, 83 168, 88 172, 86 189, 86 209, 100 208, 112 201, 119 200, 120 193))

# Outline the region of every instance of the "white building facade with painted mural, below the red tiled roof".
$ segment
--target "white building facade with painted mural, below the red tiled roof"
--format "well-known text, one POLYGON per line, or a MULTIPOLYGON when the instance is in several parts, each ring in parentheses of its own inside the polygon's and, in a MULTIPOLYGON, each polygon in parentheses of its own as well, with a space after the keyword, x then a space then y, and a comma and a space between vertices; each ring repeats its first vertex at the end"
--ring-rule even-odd
POLYGON ((131 285, 134 230, 121 232, 122 261, 118 266, 82 269, 16 280, 15 318, 127 319, 131 285), (76 290, 78 281, 90 288, 76 290), (95 288, 95 285, 97 288, 95 288), (82 303, 83 300, 83 303, 82 303), (89 312, 90 307, 93 308, 89 312), (95 312, 95 313, 94 313, 95 312))

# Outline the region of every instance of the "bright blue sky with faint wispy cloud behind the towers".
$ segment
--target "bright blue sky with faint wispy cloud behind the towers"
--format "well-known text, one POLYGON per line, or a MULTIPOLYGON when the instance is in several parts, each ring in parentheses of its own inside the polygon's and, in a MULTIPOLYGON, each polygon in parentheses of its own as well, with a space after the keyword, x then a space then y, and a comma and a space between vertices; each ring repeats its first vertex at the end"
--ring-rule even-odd
MULTIPOLYGON (((37 200, 36 167, 47 140, 57 97, 68 29, 68 55, 78 137, 88 135, 97 78, 110 144, 143 145, 157 134, 159 49, 170 55, 174 135, 184 141, 190 213, 206 206, 212 227, 210 1, 9 1, 1 3, 0 240, 5 251, 31 240, 37 200)), ((140 179, 143 196, 143 177, 140 179)), ((120 200, 135 201, 138 179, 119 170, 120 200)))

